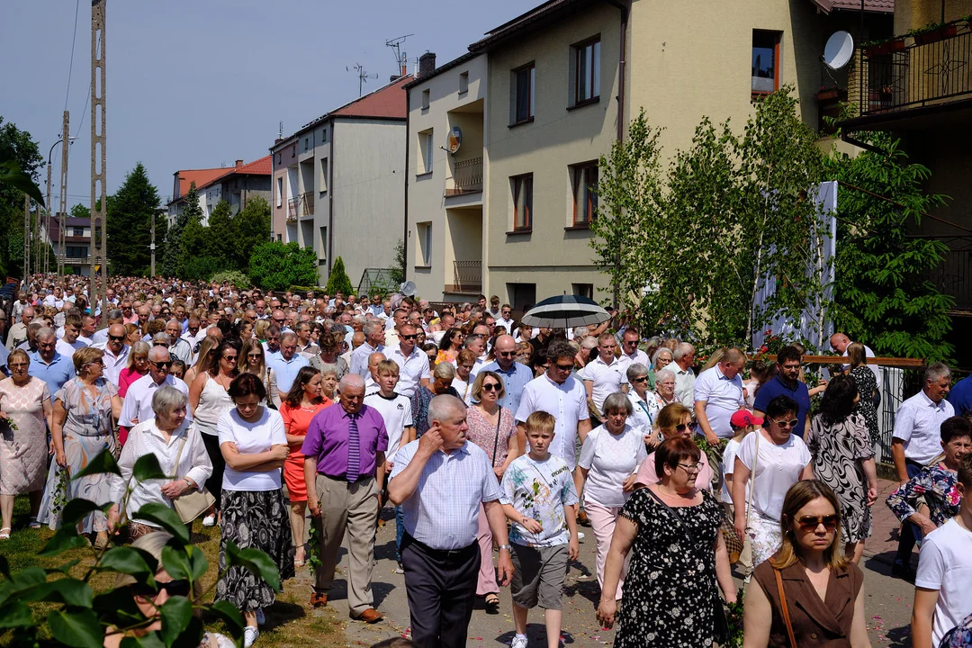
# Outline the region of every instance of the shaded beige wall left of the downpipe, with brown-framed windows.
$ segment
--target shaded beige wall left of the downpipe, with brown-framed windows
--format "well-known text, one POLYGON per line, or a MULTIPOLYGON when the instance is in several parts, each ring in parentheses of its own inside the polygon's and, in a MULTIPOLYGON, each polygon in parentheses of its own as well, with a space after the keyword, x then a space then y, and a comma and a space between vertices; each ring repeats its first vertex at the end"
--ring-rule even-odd
MULTIPOLYGON (((610 151, 617 133, 620 11, 595 4, 550 27, 489 52, 490 110, 486 149, 489 201, 484 292, 522 308, 526 295, 572 292, 573 284, 607 286, 594 265, 590 230, 574 229, 570 166, 610 151), (569 109, 572 45, 600 35, 600 100, 569 109), (533 61, 535 116, 510 126, 512 70, 533 61), (513 230, 510 177, 533 174, 533 227, 513 230), (515 288, 520 285, 519 290, 515 288), (531 286, 532 285, 532 286, 531 286), (517 295, 519 298, 517 299, 517 295), (517 303, 519 302, 519 303, 517 303)), ((595 298, 606 293, 596 292, 595 298)))

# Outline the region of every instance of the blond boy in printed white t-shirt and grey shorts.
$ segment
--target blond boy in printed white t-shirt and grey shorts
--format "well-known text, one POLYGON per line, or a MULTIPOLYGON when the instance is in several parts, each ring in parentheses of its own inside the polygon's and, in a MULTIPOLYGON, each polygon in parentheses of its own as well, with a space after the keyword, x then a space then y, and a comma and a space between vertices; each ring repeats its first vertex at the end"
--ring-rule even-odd
POLYGON ((503 474, 500 503, 513 525, 513 623, 510 648, 527 648, 527 612, 544 608, 548 648, 558 648, 564 578, 578 554, 577 492, 567 461, 550 455, 556 419, 534 412, 526 421, 530 452, 513 460, 503 474))

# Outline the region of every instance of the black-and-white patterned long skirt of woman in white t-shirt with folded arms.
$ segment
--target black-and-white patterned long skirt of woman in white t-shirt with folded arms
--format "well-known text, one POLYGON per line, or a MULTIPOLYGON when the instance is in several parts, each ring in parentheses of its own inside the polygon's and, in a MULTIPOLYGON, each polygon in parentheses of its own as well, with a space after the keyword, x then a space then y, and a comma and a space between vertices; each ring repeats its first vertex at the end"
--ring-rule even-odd
MULTIPOLYGON (((226 569, 226 542, 240 549, 260 549, 280 569, 283 582, 294 576, 294 543, 284 494, 276 491, 223 491, 220 524, 220 573, 226 569)), ((216 584, 216 600, 228 600, 241 612, 269 607, 276 600, 266 581, 243 567, 232 567, 216 584)))

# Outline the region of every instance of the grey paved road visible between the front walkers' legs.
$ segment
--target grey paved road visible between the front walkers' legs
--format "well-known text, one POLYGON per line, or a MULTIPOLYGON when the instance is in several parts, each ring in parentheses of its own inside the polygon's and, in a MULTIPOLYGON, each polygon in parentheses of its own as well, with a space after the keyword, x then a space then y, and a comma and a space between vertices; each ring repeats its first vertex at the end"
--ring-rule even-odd
MULTIPOLYGON (((891 482, 881 486, 885 493, 893 488, 891 482)), ((376 607, 385 615, 385 621, 374 626, 349 621, 346 626, 349 646, 370 646, 381 639, 405 634, 409 628, 404 577, 394 573, 395 522, 390 509, 386 508, 384 514, 389 524, 378 529, 375 549, 377 566, 372 587, 376 607)), ((884 497, 875 506, 874 515, 875 534, 868 541, 869 548, 861 565, 864 569, 868 630, 874 648, 903 648, 911 646, 909 623, 914 587, 890 576, 890 557, 896 544, 896 531, 891 522, 893 518, 884 505, 884 497)), ((569 646, 609 645, 614 632, 602 630, 594 618, 594 606, 600 594, 593 573, 594 538, 591 529, 582 528, 582 531, 587 537, 580 543, 580 560, 571 565, 566 583, 563 636, 569 646)), ((346 568, 345 557, 346 554, 342 556, 340 565, 342 572, 346 568)), ((917 554, 915 557, 917 559, 917 554)), ((347 619, 345 597, 346 590, 341 581, 330 597, 330 604, 340 619, 347 619)), ((500 598, 500 614, 488 615, 482 609, 473 613, 467 642, 469 648, 498 648, 509 644, 513 636, 513 621, 508 590, 503 590, 500 598)), ((528 636, 532 647, 546 645, 541 610, 531 612, 528 636)))

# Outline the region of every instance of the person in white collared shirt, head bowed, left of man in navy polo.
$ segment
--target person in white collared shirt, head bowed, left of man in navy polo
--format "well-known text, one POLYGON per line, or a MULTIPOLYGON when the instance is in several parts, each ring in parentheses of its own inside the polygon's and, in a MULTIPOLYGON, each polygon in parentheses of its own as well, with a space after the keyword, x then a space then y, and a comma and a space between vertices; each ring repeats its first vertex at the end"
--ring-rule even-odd
POLYGON ((695 381, 695 418, 697 434, 704 434, 710 445, 733 436, 729 420, 746 408, 743 377, 746 354, 728 349, 722 361, 703 371, 695 381))

